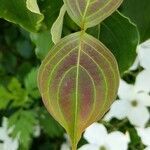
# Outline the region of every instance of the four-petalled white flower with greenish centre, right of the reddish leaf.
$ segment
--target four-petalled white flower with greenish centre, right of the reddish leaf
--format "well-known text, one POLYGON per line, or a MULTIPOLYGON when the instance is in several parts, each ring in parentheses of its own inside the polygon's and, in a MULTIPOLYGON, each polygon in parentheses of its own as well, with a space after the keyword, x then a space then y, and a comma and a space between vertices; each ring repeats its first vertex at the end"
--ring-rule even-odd
POLYGON ((150 106, 150 71, 144 70, 136 78, 135 85, 120 81, 117 100, 105 116, 105 120, 112 118, 128 118, 131 124, 144 127, 150 119, 147 109, 150 106))

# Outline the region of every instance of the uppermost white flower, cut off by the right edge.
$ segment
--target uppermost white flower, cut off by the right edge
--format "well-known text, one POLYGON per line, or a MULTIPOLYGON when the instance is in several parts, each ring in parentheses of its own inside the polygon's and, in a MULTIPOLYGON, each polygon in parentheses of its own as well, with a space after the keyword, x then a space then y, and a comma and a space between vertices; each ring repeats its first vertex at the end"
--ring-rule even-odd
POLYGON ((150 40, 140 44, 137 48, 137 58, 130 70, 136 70, 140 65, 144 69, 150 70, 150 40))

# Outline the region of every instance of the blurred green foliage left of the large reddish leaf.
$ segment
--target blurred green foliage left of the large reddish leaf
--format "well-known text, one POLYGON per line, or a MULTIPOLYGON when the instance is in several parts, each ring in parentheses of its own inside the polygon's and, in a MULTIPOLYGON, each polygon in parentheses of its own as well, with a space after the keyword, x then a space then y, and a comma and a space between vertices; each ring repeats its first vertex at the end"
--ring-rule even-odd
POLYGON ((59 147, 63 141, 64 130, 43 108, 36 82, 40 61, 30 35, 3 19, 0 29, 1 119, 9 118, 11 136, 19 137, 20 150, 34 150, 38 141, 41 144, 36 149, 56 149, 55 145, 59 147), (38 138, 34 137, 36 126, 41 129, 38 138))

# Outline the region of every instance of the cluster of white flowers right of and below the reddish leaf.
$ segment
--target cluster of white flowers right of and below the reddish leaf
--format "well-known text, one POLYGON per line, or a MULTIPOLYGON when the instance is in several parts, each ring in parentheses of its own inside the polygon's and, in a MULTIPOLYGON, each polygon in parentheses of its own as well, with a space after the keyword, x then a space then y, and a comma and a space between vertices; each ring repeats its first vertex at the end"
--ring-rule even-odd
MULTIPOLYGON (((79 150, 127 150, 132 145, 132 133, 124 124, 127 120, 132 129, 141 139, 142 148, 150 150, 150 40, 137 48, 137 58, 130 67, 129 73, 135 73, 134 84, 121 79, 118 90, 118 99, 112 104, 110 111, 105 115, 102 123, 94 123, 83 134, 87 144, 79 150), (123 123, 124 132, 111 125, 117 119, 123 123), (111 128, 106 128, 110 124, 111 128), (106 125, 106 126, 105 126, 106 125), (109 132, 107 131, 109 129, 109 132)), ((69 150, 69 141, 63 143, 61 150, 69 150)))

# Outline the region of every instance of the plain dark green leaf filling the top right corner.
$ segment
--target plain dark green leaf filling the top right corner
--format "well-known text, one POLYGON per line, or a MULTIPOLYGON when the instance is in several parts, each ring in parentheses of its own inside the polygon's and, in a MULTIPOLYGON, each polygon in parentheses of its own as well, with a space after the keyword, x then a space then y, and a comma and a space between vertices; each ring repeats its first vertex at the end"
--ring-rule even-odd
POLYGON ((124 0, 121 12, 130 17, 137 24, 140 31, 141 42, 150 38, 150 1, 124 0))

